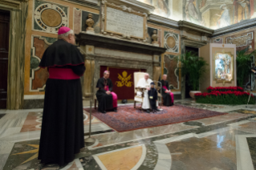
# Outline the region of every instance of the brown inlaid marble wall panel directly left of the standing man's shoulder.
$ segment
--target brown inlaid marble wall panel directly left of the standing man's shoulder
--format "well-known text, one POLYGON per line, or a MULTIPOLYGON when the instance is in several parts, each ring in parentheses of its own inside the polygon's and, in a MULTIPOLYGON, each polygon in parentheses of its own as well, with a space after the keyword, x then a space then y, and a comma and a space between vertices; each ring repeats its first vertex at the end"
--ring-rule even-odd
POLYGON ((32 35, 31 55, 30 55, 30 91, 44 91, 48 79, 47 68, 40 68, 39 63, 43 57, 44 51, 57 38, 32 35))

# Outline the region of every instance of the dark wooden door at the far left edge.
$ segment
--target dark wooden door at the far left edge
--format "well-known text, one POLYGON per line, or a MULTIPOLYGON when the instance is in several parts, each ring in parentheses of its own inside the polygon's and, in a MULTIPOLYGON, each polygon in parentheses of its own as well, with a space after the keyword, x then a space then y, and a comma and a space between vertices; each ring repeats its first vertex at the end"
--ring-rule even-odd
POLYGON ((10 12, 0 10, 0 109, 6 108, 10 12))

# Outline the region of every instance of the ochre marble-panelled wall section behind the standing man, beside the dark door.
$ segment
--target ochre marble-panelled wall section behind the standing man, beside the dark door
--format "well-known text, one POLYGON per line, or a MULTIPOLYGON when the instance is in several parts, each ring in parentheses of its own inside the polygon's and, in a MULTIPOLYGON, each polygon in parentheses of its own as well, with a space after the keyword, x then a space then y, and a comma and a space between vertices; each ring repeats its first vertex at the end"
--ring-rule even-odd
MULTIPOLYGON (((69 26, 79 33, 88 13, 99 20, 98 0, 78 3, 62 0, 28 0, 25 37, 24 108, 43 107, 43 95, 48 78, 46 69, 39 68, 43 52, 57 40, 60 26, 69 26)), ((95 22, 95 28, 97 22, 95 22)), ((95 29, 97 31, 97 29, 95 29)), ((100 29, 98 29, 98 32, 100 29)))

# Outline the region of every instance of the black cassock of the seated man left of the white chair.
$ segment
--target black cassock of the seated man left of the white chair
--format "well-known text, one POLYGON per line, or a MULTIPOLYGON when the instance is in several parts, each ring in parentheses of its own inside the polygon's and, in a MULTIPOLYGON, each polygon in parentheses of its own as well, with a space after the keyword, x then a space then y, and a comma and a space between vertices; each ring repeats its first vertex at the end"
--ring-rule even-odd
POLYGON ((99 101, 98 111, 103 112, 115 109, 115 107, 113 107, 112 94, 108 95, 106 93, 106 91, 113 90, 113 84, 111 79, 100 78, 97 82, 96 87, 99 88, 96 93, 97 99, 99 101))

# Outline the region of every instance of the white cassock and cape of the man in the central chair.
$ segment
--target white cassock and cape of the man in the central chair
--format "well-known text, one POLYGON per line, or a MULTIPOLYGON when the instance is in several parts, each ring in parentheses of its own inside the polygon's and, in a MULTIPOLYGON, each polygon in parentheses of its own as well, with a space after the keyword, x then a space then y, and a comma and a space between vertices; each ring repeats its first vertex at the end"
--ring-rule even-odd
MULTIPOLYGON (((147 87, 150 87, 150 83, 152 83, 152 79, 145 80, 144 78, 142 78, 139 80, 136 87, 147 88, 147 87)), ((142 92, 137 91, 137 95, 141 96, 141 94, 142 92)), ((156 107, 158 107, 158 102, 156 102, 156 107)), ((143 100, 142 108, 143 109, 150 108, 149 99, 148 99, 148 90, 144 91, 144 100, 143 100)))

